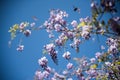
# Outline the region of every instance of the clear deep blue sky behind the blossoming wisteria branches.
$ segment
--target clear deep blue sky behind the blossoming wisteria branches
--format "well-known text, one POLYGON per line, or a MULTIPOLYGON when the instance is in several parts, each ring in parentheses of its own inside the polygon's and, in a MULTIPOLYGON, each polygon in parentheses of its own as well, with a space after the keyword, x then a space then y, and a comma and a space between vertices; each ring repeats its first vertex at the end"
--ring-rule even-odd
MULTIPOLYGON (((68 22, 79 21, 79 18, 90 16, 90 0, 1 0, 0 1, 0 80, 33 80, 34 73, 39 69, 38 59, 42 56, 43 45, 49 43, 48 34, 42 31, 33 31, 28 38, 23 38, 25 50, 20 53, 16 51, 20 36, 12 42, 12 47, 8 48, 10 40, 9 28, 15 23, 22 21, 34 22, 32 16, 39 20, 37 25, 41 25, 49 17, 50 9, 65 10, 69 14, 68 22), (73 11, 73 6, 80 8, 80 14, 73 11)), ((95 36, 96 37, 96 36, 95 36)), ((105 38, 100 37, 98 41, 86 41, 80 46, 80 53, 76 54, 70 50, 73 56, 94 56, 99 50, 105 38), (86 47, 87 46, 87 47, 86 47)), ((104 45, 104 44, 103 44, 104 45)), ((62 54, 62 53, 60 53, 62 54)), ((49 58, 49 56, 47 56, 49 58)), ((59 65, 56 66, 49 58, 49 65, 62 70, 67 62, 62 62, 59 57, 59 65)))

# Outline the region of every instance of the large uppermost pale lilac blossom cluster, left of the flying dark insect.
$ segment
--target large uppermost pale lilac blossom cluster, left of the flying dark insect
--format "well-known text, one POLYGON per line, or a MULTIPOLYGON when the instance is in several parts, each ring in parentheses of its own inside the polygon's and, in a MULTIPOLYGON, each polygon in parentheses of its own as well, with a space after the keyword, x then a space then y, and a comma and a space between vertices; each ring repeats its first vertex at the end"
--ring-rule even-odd
MULTIPOLYGON (((50 10, 50 17, 43 24, 49 35, 53 35, 52 30, 55 30, 57 32, 64 30, 64 27, 66 26, 66 21, 64 20, 65 17, 68 17, 68 14, 65 11, 59 9, 50 10)), ((50 36, 50 38, 52 37, 50 36)))

